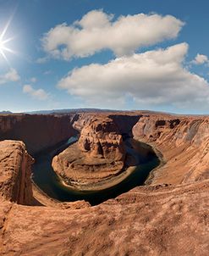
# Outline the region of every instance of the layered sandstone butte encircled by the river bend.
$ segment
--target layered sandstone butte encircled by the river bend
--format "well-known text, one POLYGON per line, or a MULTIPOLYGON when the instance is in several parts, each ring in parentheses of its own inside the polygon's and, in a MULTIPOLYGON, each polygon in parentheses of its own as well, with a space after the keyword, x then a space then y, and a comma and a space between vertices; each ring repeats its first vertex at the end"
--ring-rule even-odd
POLYGON ((52 167, 69 186, 90 189, 118 175, 124 158, 118 126, 108 117, 93 115, 85 122, 79 142, 55 156, 52 167))

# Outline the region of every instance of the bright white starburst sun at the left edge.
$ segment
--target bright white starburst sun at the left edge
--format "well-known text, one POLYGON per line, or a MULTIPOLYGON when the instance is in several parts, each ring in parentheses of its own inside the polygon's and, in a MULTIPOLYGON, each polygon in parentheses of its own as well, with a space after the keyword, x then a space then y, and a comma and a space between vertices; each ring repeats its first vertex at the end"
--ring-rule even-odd
POLYGON ((11 19, 8 21, 7 25, 3 28, 3 31, 0 33, 0 55, 8 62, 6 52, 15 53, 10 47, 8 47, 8 42, 14 40, 14 37, 6 38, 6 33, 8 31, 8 26, 10 25, 11 19))

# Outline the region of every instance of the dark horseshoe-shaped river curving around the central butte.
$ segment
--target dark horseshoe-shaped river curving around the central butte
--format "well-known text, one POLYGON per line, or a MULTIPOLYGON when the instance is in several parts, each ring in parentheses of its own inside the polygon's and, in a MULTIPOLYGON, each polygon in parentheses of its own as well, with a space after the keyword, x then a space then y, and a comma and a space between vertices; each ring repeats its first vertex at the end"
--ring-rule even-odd
POLYGON ((137 166, 124 181, 121 181, 116 186, 100 191, 75 191, 67 186, 63 186, 60 182, 58 175, 52 169, 52 158, 76 141, 76 137, 71 137, 68 142, 63 142, 61 146, 37 154, 35 157, 36 163, 32 167, 32 179, 36 185, 43 192, 47 193, 49 197, 62 202, 85 200, 91 203, 91 205, 96 205, 109 198, 116 198, 135 186, 144 185, 151 170, 160 164, 160 160, 151 147, 145 143, 132 140, 131 143, 126 143, 126 149, 128 153, 135 157, 137 166))

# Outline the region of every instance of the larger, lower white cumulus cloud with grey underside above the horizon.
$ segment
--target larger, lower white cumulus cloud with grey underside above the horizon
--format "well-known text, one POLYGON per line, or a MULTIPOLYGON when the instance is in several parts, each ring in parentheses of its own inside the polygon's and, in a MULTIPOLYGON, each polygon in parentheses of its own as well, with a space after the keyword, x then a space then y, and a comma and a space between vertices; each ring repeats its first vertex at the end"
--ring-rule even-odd
POLYGON ((95 106, 115 107, 128 97, 138 109, 162 106, 208 108, 206 80, 184 68, 188 44, 116 58, 77 68, 58 82, 69 94, 95 106))

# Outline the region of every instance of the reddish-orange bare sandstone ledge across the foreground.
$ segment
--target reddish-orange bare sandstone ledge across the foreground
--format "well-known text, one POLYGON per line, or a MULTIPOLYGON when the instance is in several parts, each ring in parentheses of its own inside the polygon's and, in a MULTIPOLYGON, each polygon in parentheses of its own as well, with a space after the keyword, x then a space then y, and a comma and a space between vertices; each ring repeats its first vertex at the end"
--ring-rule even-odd
POLYGON ((136 187, 87 209, 1 203, 1 255, 207 256, 208 192, 197 181, 136 187))

